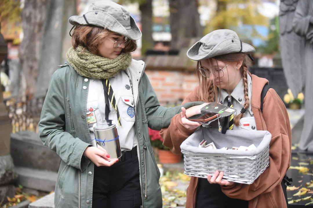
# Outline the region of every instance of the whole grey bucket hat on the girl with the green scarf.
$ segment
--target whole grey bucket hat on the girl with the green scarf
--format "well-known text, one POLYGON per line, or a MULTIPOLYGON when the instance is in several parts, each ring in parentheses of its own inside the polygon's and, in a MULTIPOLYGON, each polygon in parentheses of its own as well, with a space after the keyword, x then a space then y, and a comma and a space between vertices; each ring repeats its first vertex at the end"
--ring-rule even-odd
POLYGON ((126 36, 131 40, 141 38, 141 31, 136 21, 121 5, 111 1, 96 1, 90 4, 88 12, 83 16, 69 17, 74 26, 94 25, 106 27, 108 30, 126 36))

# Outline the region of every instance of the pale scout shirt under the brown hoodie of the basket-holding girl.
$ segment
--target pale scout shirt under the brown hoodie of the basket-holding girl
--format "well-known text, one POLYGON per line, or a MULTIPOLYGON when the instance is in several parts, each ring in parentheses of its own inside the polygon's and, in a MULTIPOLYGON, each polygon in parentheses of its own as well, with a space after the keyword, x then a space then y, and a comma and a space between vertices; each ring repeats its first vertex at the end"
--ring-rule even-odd
MULTIPOLYGON (((246 110, 244 113, 244 116, 242 119, 240 119, 239 126, 233 125, 233 130, 239 130, 239 129, 246 129, 246 130, 256 130, 255 126, 255 119, 253 116, 253 112, 251 109, 251 96, 252 96, 252 81, 251 81, 251 76, 248 74, 247 76, 248 79, 248 97, 250 100, 250 105, 249 108, 246 110)), ((221 98, 220 98, 220 103, 223 105, 228 104, 227 100, 228 93, 222 89, 221 90, 221 98)), ((240 80, 238 85, 235 87, 233 90, 231 96, 233 97, 233 108, 237 109, 237 111, 234 113, 234 116, 240 114, 241 109, 244 107, 244 81, 243 79, 240 80)), ((219 98, 219 89, 218 89, 218 98, 219 98)), ((220 120, 221 126, 223 127, 223 122, 220 120)), ((218 121, 213 121, 206 127, 209 128, 218 128, 218 121)))

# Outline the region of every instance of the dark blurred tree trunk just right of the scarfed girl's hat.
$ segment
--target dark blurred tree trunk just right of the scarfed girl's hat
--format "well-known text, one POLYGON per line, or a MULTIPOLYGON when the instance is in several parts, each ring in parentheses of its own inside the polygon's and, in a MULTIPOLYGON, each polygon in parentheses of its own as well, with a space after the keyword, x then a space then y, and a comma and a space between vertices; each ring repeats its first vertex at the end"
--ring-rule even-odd
POLYGON ((152 39, 152 0, 119 0, 119 4, 138 3, 141 12, 142 46, 141 54, 145 55, 147 49, 153 48, 152 39))

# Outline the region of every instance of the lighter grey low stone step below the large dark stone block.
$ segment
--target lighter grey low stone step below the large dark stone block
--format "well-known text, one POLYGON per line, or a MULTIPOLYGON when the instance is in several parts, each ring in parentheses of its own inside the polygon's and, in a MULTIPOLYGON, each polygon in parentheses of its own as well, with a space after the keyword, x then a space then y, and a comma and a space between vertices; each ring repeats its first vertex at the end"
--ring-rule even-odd
POLYGON ((17 184, 39 191, 54 191, 57 172, 28 167, 15 167, 15 171, 18 173, 17 184))

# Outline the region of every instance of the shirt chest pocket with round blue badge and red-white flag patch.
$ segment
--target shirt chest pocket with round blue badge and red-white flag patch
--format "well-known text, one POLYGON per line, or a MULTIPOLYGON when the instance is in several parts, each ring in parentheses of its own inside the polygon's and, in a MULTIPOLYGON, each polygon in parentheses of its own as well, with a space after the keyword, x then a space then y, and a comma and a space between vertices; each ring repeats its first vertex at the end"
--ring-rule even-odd
POLYGON ((123 119, 127 122, 135 122, 134 97, 129 95, 121 95, 121 99, 123 104, 120 105, 120 115, 122 115, 123 119))

